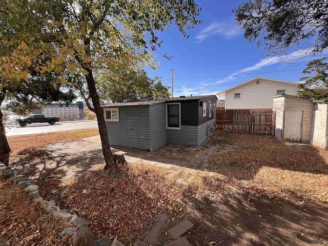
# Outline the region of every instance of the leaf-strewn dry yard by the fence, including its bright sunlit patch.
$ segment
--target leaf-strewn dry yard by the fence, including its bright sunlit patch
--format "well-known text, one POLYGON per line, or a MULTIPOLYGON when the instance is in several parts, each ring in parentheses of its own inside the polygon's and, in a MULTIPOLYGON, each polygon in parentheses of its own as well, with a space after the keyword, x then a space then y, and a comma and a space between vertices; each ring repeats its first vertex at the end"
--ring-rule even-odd
POLYGON ((313 146, 286 146, 273 136, 216 132, 215 141, 240 149, 217 155, 211 169, 243 180, 269 196, 328 202, 328 151, 313 146))

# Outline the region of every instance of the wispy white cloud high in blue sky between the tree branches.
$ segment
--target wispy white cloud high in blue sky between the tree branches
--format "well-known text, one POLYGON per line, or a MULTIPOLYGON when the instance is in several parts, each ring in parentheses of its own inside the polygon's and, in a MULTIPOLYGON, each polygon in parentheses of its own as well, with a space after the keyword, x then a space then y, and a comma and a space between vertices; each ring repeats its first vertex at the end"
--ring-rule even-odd
POLYGON ((202 29, 197 34, 196 40, 197 43, 201 43, 208 37, 214 35, 220 35, 224 38, 231 39, 233 37, 239 36, 241 33, 242 32, 237 24, 215 22, 209 25, 208 27, 202 29))

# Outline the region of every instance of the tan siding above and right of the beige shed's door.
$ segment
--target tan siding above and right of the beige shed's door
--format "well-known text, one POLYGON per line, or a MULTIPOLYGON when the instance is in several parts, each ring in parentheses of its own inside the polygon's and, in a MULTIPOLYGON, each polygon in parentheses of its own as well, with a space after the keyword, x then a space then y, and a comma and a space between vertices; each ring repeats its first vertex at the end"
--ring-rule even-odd
POLYGON ((303 100, 298 98, 285 98, 285 111, 303 111, 303 125, 302 125, 302 142, 311 141, 311 130, 313 121, 314 103, 311 100, 303 100))

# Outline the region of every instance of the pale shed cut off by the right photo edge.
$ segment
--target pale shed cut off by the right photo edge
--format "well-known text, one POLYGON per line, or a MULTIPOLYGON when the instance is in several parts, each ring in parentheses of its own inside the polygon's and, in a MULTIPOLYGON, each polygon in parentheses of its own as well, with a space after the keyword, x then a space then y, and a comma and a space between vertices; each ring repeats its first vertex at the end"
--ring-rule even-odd
POLYGON ((328 101, 326 100, 314 100, 315 103, 313 111, 313 128, 312 144, 320 148, 326 149, 328 147, 328 124, 327 124, 327 114, 328 114, 328 101))

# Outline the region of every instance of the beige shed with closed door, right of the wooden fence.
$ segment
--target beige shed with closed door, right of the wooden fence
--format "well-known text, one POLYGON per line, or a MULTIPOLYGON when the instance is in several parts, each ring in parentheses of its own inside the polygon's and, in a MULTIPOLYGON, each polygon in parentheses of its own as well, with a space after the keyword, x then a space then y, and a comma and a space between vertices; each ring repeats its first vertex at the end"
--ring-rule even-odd
POLYGON ((294 142, 311 142, 313 101, 286 94, 272 98, 273 111, 276 112, 275 136, 294 142))

